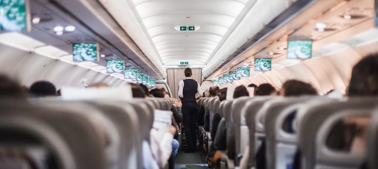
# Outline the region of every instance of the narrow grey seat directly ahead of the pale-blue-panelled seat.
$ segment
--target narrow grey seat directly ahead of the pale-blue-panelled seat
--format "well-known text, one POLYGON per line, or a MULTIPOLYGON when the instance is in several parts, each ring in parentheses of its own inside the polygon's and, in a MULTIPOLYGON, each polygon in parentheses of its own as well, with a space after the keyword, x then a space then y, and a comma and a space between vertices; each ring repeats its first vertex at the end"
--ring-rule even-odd
POLYGON ((248 168, 255 167, 255 154, 257 152, 258 144, 255 138, 256 131, 256 114, 263 107, 263 104, 272 99, 271 97, 259 97, 253 101, 248 102, 246 105, 247 110, 245 113, 246 124, 248 126, 248 135, 249 135, 249 158, 248 158, 248 168), (261 98, 261 99, 260 99, 261 98))

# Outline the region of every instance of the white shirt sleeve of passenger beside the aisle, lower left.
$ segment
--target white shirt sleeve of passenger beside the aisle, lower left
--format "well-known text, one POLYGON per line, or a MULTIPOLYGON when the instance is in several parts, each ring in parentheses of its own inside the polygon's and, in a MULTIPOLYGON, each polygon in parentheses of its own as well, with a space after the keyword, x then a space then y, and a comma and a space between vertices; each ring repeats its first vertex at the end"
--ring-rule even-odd
POLYGON ((166 132, 163 139, 159 139, 159 131, 156 128, 151 128, 149 132, 151 152, 160 168, 165 168, 168 159, 172 154, 172 140, 173 135, 166 132))

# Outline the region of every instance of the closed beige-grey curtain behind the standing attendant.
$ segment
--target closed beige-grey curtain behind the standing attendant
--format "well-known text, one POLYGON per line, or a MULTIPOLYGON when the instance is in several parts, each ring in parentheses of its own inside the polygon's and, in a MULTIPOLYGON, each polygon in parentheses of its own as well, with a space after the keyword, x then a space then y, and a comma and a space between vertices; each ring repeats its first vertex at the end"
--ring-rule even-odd
MULTIPOLYGON (((183 69, 167 69, 167 84, 171 89, 171 97, 179 98, 179 83, 182 79, 185 79, 183 69)), ((193 79, 196 80, 199 85, 202 84, 202 69, 192 69, 193 79)))

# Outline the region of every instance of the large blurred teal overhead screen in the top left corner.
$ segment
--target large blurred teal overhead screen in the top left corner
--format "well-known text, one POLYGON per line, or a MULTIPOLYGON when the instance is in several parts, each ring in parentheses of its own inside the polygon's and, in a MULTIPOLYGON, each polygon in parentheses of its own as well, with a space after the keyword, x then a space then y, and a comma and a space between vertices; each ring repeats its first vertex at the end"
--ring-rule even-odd
POLYGON ((0 31, 30 31, 29 0, 0 0, 0 31))

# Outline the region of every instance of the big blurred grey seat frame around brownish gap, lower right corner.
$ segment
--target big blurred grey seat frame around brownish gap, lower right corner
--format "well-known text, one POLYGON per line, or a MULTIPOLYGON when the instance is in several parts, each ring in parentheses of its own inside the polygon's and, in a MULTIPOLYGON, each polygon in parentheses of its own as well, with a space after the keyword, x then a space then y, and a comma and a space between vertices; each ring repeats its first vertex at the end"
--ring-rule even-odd
MULTIPOLYGON (((315 155, 317 169, 359 169, 366 160, 366 152, 360 148, 353 148, 351 143, 350 150, 334 150, 328 145, 329 137, 332 137, 331 131, 337 124, 343 121, 350 125, 356 125, 362 128, 367 127, 372 111, 368 109, 343 110, 332 113, 319 127, 316 133, 315 155), (367 123, 365 123, 367 122, 367 123)), ((345 127, 345 126, 344 126, 345 127)), ((362 133, 360 133, 362 134, 362 133)), ((358 134, 352 136, 354 139, 359 138, 358 134)), ((364 142, 363 142, 364 143, 364 142)), ((363 145, 365 146, 365 144, 363 145)))

